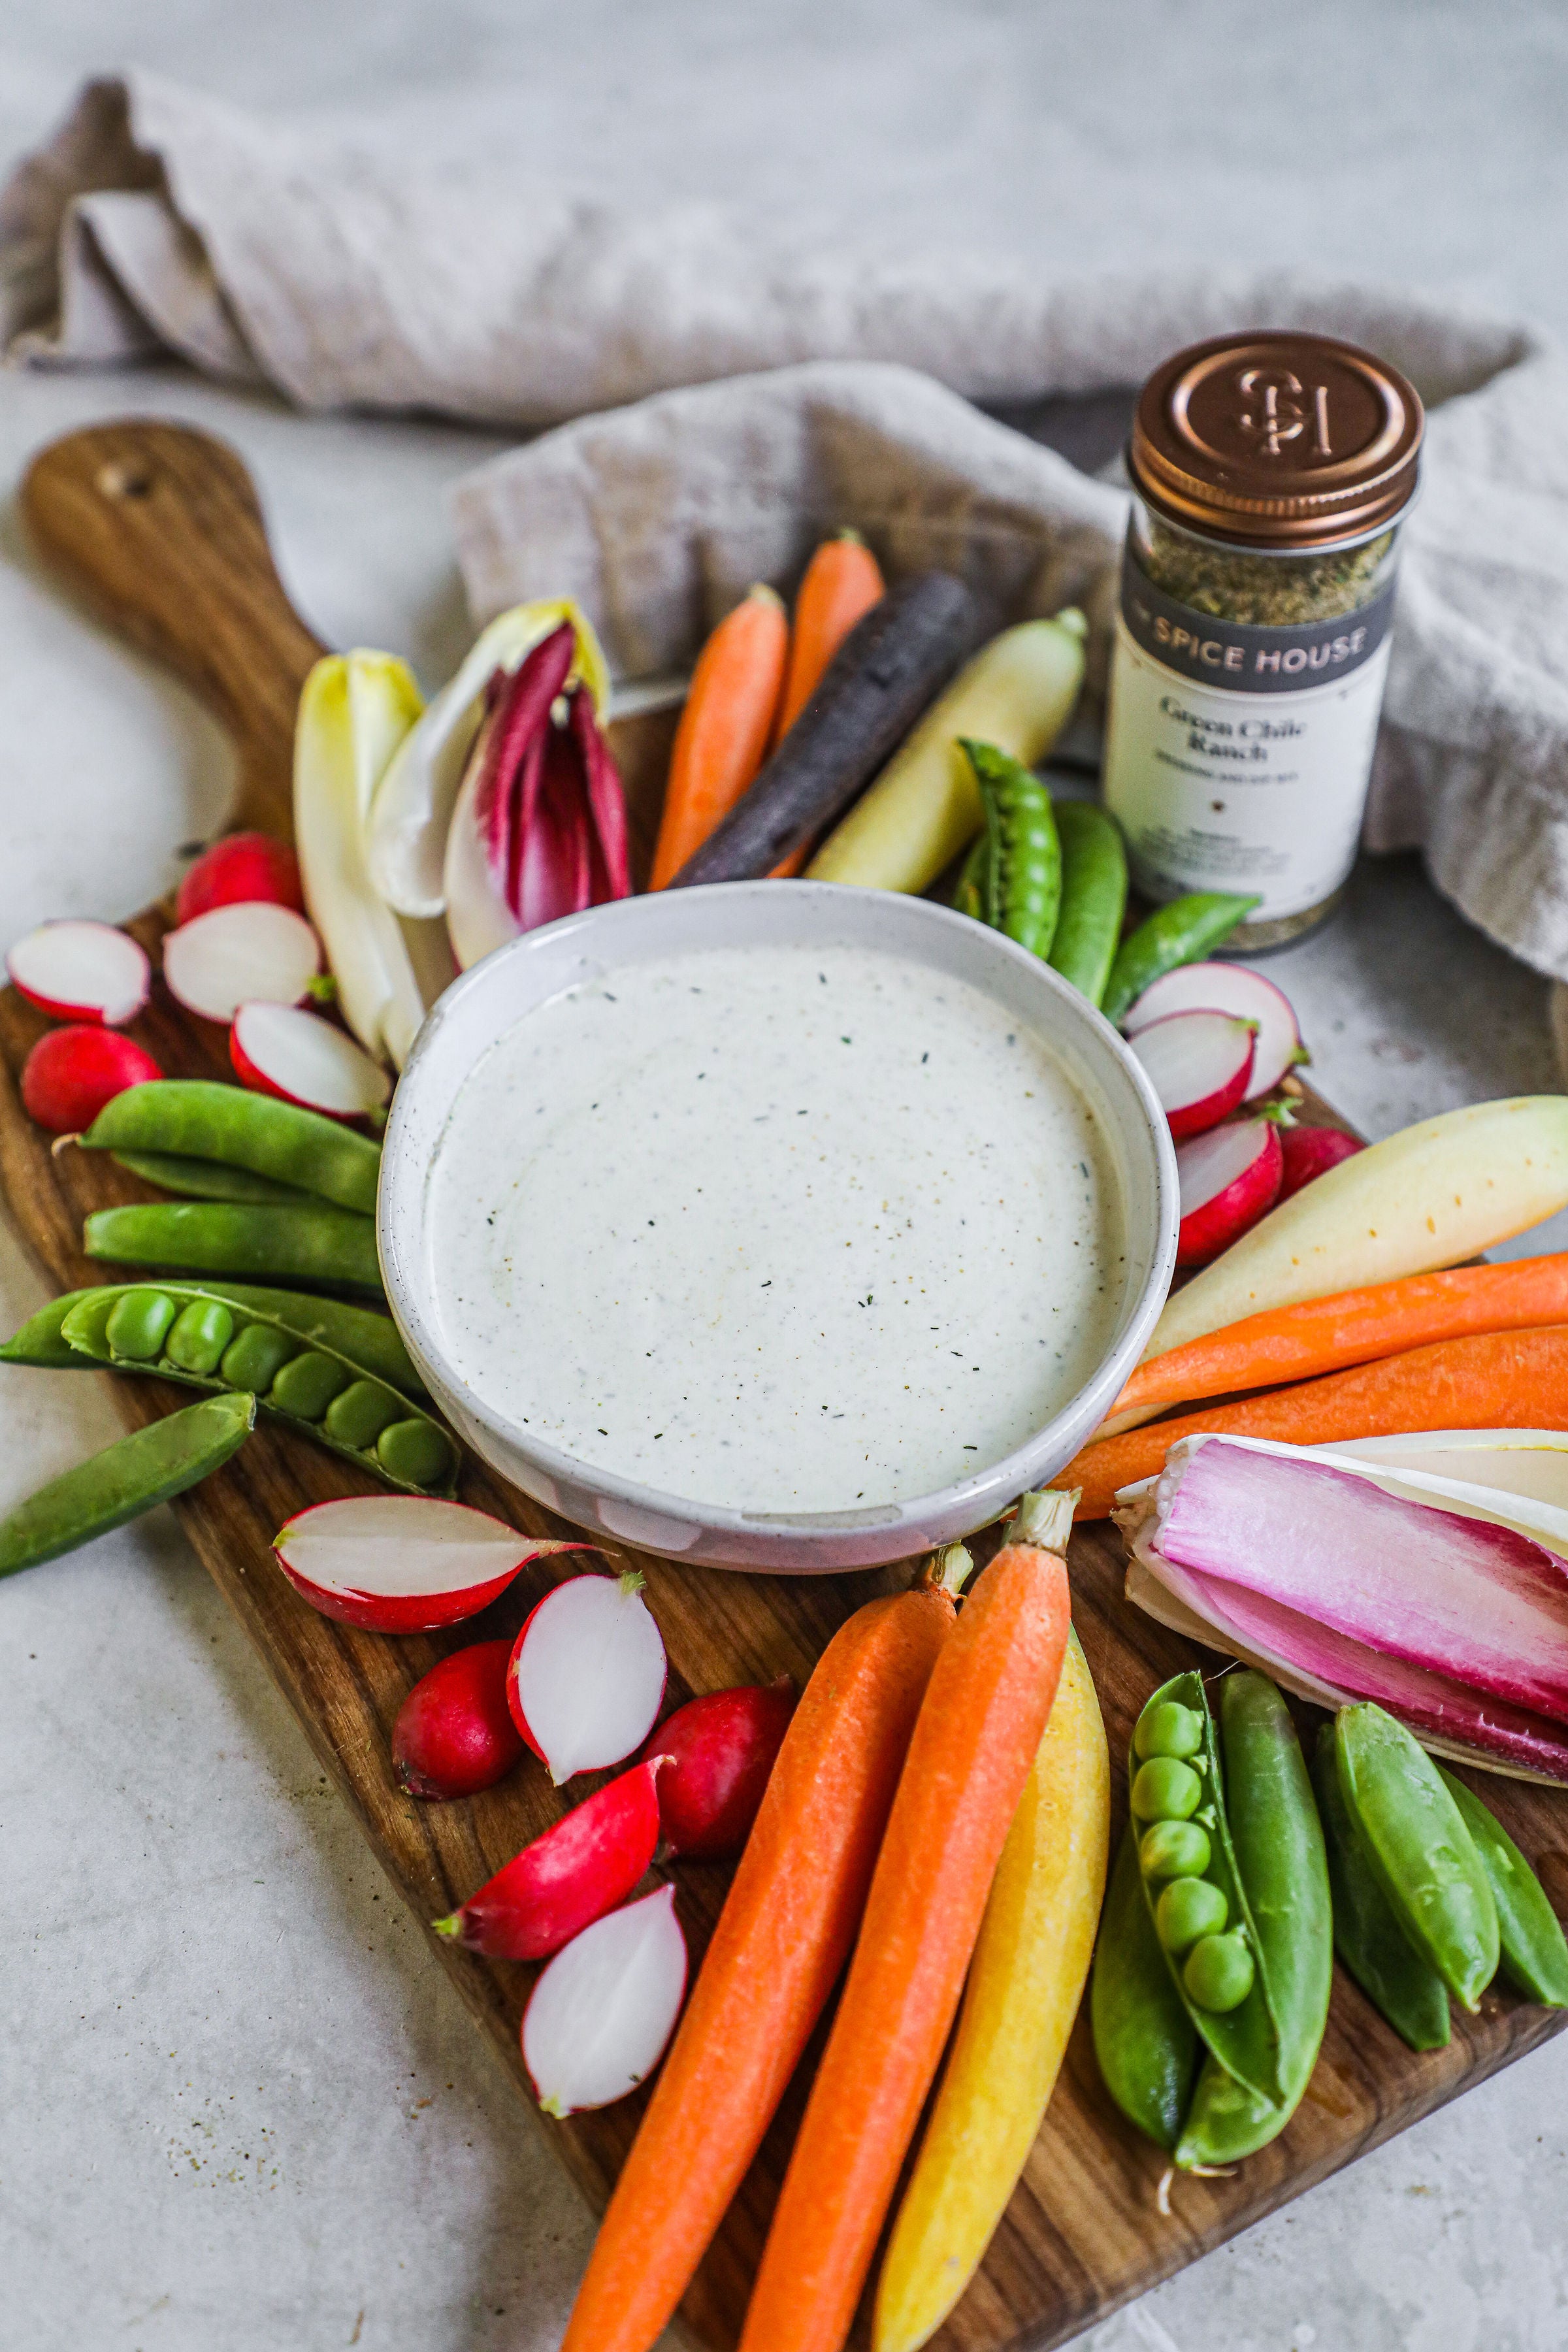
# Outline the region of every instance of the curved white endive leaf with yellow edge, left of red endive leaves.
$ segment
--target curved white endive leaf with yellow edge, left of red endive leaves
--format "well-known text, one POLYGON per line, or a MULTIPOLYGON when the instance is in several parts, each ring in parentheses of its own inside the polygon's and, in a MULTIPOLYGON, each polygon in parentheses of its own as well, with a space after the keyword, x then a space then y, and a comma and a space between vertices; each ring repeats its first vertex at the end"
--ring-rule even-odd
POLYGON ((571 597, 538 597, 498 614, 480 633, 456 677, 397 746, 376 790, 369 873, 400 915, 444 913, 447 835, 468 753, 484 720, 484 689, 496 670, 515 670, 562 621, 571 623, 576 640, 567 684, 588 687, 604 722, 609 663, 588 614, 571 597))

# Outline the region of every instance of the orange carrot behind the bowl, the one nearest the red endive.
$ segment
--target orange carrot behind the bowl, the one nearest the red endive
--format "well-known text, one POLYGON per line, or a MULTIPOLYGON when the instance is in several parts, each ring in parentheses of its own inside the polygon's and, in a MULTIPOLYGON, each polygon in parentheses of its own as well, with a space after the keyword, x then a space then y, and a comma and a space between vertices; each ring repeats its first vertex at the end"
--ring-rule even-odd
POLYGON ((771 588, 752 588, 696 656, 675 729, 649 889, 665 889, 762 767, 778 710, 790 623, 771 588))

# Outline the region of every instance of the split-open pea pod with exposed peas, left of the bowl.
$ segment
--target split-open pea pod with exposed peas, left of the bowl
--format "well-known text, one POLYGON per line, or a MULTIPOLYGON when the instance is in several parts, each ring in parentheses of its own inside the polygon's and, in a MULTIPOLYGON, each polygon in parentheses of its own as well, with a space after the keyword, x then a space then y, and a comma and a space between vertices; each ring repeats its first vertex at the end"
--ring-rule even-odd
MULTIPOLYGON (((266 1296, 242 1298, 233 1287, 200 1282, 103 1284, 78 1291, 61 1331, 82 1359, 110 1371, 148 1371, 190 1388, 244 1388, 263 1414, 371 1477, 414 1494, 451 1494, 458 1454, 440 1421, 364 1359, 331 1345, 310 1312, 317 1301, 284 1298, 282 1312, 252 1303, 266 1296), (303 1312, 294 1315, 294 1305, 303 1312)), ((341 1319, 327 1327, 353 1341, 341 1319)))

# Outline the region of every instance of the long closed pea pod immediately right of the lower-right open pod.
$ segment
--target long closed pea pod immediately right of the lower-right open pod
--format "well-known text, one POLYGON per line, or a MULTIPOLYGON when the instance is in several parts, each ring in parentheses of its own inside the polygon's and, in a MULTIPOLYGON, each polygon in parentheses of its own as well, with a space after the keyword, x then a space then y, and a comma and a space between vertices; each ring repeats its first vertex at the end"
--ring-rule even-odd
POLYGON ((1239 2164, 1295 2114, 1328 2025, 1333 1910, 1328 1856, 1291 1710, 1267 1675, 1220 1686, 1225 1809, 1279 2025, 1279 2098, 1260 2098, 1211 2056, 1175 2145, 1182 2171, 1239 2164))

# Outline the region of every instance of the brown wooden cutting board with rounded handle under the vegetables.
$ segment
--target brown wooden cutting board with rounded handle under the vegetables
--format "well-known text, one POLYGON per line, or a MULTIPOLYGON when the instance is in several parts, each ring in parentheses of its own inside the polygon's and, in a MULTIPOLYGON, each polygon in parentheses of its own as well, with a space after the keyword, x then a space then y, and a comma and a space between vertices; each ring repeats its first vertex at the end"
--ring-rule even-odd
MULTIPOLYGON (((256 492, 235 452, 181 426, 143 419, 96 426, 45 449, 21 496, 40 553, 113 628, 186 677, 230 729, 240 764, 233 821, 287 835, 294 706, 322 647, 282 593, 256 492)), ((661 717, 616 729, 642 870, 670 727, 661 717)), ((150 908, 129 929, 155 950, 167 913, 150 908)), ((49 1138, 26 1120, 16 1075, 45 1028, 45 1018, 14 990, 0 995, 0 1174, 40 1265, 66 1289, 106 1272, 80 1254, 82 1216, 115 1200, 150 1195, 103 1155, 52 1157, 49 1138)), ((230 1075, 223 1033, 181 1014, 162 988, 155 988, 132 1035, 169 1075, 230 1075)), ((1309 1117, 1340 1124, 1321 1103, 1309 1105, 1309 1117)), ((113 1385, 129 1423, 188 1402, 155 1381, 120 1378, 113 1385)), ((440 1639, 386 1639, 334 1625, 284 1583, 270 1538, 303 1503, 357 1486, 357 1475, 331 1454, 261 1425, 244 1451, 176 1510, 322 1766, 360 1818, 381 1867, 411 1912, 430 1922, 473 1893, 562 1806, 529 1759, 503 1788, 468 1804, 414 1804, 397 1792, 390 1773, 393 1717, 404 1691, 442 1651, 512 1632, 552 1576, 548 1564, 524 1573, 482 1618, 440 1639)), ((468 1468, 463 1494, 534 1534, 569 1534, 480 1465, 468 1468)), ((907 1576, 903 1569, 825 1578, 726 1576, 651 1555, 616 1555, 616 1564, 632 1559, 646 1576, 649 1606, 670 1651, 670 1703, 733 1682, 766 1682, 778 1672, 804 1682, 835 1628, 872 1592, 907 1576)), ((569 1559, 559 1573, 574 1566, 569 1559)), ((1215 1661, 1121 1599, 1121 1552, 1107 1529, 1091 1526, 1074 1536, 1072 1585, 1112 1757, 1119 1759, 1150 1689, 1182 1668, 1215 1661)), ((1114 1778, 1119 1820, 1119 1762, 1114 1778)), ((1540 1870, 1559 1912, 1568 1912, 1568 1797, 1488 1776, 1479 1776, 1476 1785, 1540 1870)), ((726 1870, 679 1865, 672 1877, 696 1957, 724 1898, 726 1870)), ((299 1931, 308 1933, 308 1922, 299 1931)), ((433 1938, 433 1950, 531 2105, 517 2025, 534 1971, 475 1959, 442 1938, 433 1938)), ((1161 2216, 1157 2183, 1164 2157, 1110 2105, 1086 2020, 1079 2018, 1018 2194, 938 2345, 947 2352, 997 2352, 1001 2345, 1063 2343, 1544 2042, 1561 2023, 1561 2013, 1488 1994, 1479 2018, 1455 2016, 1446 2051, 1418 2058, 1335 1971, 1324 2056, 1291 2129, 1229 2180, 1178 2180, 1171 2213, 1161 2216)), ((595 2206, 609 2194, 639 2112, 642 2100, 628 2098, 567 2124, 541 2119, 595 2206)), ((797 2119, 799 2089, 776 2119, 686 2296, 684 2319, 715 2352, 736 2340, 797 2119)))

